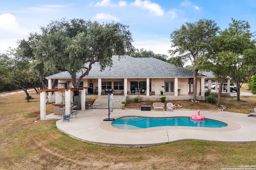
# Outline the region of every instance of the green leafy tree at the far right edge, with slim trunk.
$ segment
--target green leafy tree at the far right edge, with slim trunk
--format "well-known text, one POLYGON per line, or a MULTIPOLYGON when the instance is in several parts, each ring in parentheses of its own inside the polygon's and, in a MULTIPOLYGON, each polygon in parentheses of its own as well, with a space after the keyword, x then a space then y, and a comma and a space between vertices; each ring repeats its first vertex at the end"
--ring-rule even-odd
MULTIPOLYGON (((256 46, 249 29, 248 22, 232 19, 229 28, 220 32, 220 35, 215 38, 220 61, 220 64, 216 65, 215 72, 218 71, 222 76, 226 74, 224 71, 228 72, 228 75, 238 85, 238 92, 240 83, 246 77, 245 71, 250 65, 256 64, 256 46)), ((237 100, 240 101, 240 93, 237 93, 237 100)))

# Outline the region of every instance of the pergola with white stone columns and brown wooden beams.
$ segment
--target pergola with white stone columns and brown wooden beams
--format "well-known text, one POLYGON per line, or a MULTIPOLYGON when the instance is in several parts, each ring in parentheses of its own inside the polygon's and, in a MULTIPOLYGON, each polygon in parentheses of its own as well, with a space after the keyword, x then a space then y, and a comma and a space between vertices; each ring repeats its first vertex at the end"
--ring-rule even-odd
MULTIPOLYGON (((46 92, 53 91, 65 91, 65 108, 71 108, 71 91, 81 90, 81 103, 85 103, 85 90, 88 87, 74 87, 74 88, 64 88, 64 89, 44 89, 38 90, 40 92, 40 120, 47 120, 46 118, 46 92)), ((85 105, 81 105, 81 110, 85 110, 85 105)), ((66 109, 66 115, 70 114, 70 109, 66 109)))

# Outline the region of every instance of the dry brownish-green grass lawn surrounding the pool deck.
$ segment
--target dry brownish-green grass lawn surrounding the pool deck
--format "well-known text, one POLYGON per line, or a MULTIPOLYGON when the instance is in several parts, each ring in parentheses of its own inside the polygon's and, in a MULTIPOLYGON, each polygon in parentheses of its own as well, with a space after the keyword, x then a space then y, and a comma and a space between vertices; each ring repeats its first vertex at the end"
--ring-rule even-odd
MULTIPOLYGON (((55 120, 40 121, 40 95, 30 95, 34 99, 29 103, 25 93, 0 97, 0 169, 220 170, 256 164, 256 142, 182 140, 145 148, 81 142, 60 132, 55 120)), ((226 111, 241 114, 256 107, 255 96, 240 99, 238 102, 236 97, 223 97, 222 104, 226 111)), ((216 104, 201 101, 177 103, 184 109, 216 109, 216 104)), ((46 105, 46 114, 52 112, 52 105, 46 105)))

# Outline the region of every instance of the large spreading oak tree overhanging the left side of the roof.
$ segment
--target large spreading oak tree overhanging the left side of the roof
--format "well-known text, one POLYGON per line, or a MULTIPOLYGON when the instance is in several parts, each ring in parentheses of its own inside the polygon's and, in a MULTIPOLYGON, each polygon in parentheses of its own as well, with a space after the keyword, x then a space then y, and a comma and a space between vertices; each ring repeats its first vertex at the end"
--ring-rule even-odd
POLYGON ((63 18, 40 29, 42 35, 34 43, 34 53, 38 59, 53 63, 59 71, 68 71, 74 87, 88 75, 92 64, 99 62, 102 70, 111 67, 112 55, 124 55, 134 48, 128 26, 120 23, 63 18), (78 71, 82 75, 76 82, 78 71))

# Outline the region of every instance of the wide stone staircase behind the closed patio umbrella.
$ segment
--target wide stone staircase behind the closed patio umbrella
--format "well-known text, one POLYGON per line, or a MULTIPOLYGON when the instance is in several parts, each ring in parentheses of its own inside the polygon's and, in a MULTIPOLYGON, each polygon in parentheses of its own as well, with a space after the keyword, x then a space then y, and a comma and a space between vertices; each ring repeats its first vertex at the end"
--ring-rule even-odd
MULTIPOLYGON (((126 96, 114 95, 114 109, 122 109, 122 101, 126 101, 126 96)), ((93 109, 108 109, 108 95, 98 96, 92 104, 93 109)))

